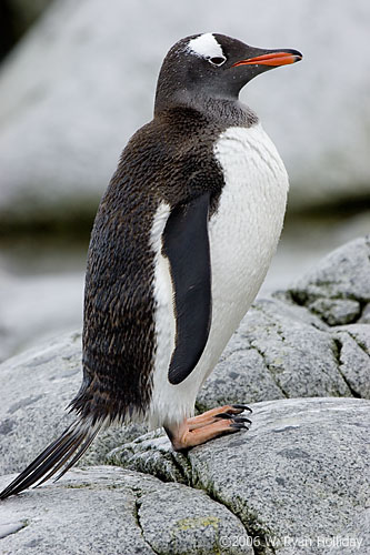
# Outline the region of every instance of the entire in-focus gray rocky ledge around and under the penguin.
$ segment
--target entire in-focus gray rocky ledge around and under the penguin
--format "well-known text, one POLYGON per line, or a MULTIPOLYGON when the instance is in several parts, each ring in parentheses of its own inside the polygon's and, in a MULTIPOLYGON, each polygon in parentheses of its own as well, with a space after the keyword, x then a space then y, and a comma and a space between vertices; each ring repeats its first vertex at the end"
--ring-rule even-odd
MULTIPOLYGON (((198 397, 253 403, 249 432, 182 455, 107 431, 89 467, 1 503, 0 553, 368 553, 369 275, 358 239, 254 304, 198 397)), ((0 366, 0 487, 71 421, 80 350, 74 333, 0 366)))

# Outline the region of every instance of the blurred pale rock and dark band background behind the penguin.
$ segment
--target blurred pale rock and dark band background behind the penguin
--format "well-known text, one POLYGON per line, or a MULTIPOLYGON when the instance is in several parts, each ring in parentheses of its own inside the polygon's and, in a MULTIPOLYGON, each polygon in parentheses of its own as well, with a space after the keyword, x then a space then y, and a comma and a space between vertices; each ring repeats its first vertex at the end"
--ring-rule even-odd
POLYGON ((0 19, 0 359, 81 325, 99 199, 151 119, 166 52, 187 34, 304 54, 241 97, 291 181, 262 294, 370 231, 367 0, 3 0, 0 19))

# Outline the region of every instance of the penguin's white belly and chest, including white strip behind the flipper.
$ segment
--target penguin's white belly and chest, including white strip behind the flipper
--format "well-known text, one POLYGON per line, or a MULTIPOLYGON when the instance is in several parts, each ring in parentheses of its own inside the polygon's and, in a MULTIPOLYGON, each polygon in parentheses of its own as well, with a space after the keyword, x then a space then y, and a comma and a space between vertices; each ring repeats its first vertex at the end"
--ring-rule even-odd
POLYGON ((178 424, 192 416, 198 391, 253 302, 282 229, 288 175, 262 127, 229 128, 217 140, 213 154, 222 168, 224 185, 209 221, 212 321, 198 364, 178 385, 168 380, 176 316, 169 263, 160 253, 158 240, 169 206, 160 206, 153 225, 157 352, 148 414, 151 427, 178 424))

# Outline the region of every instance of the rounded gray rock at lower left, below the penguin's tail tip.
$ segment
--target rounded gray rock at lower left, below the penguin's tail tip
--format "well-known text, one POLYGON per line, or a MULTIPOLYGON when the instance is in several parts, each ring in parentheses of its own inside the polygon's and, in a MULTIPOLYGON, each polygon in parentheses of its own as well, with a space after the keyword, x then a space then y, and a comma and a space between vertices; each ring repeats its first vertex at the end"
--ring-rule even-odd
MULTIPOLYGON (((11 476, 0 478, 2 487, 11 476)), ((73 470, 0 504, 1 553, 252 554, 243 525, 206 492, 112 466, 73 470), (222 537, 246 547, 224 547, 222 537)))

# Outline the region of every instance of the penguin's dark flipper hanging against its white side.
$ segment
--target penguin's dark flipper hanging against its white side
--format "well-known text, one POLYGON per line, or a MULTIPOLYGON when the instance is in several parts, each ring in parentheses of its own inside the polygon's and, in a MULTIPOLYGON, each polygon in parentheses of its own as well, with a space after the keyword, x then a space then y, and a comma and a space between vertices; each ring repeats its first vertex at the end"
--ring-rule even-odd
POLYGON ((176 347, 169 367, 171 384, 196 367, 211 325, 211 261, 208 236, 210 193, 177 205, 163 232, 174 290, 176 347))

